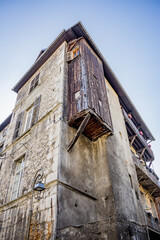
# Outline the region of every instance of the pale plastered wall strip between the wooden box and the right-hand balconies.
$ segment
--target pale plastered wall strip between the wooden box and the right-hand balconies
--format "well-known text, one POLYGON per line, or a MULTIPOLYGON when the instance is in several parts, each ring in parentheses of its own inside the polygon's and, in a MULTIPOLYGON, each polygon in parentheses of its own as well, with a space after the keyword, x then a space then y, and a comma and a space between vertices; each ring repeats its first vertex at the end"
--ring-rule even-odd
POLYGON ((129 235, 126 235, 129 234, 128 227, 136 224, 138 226, 137 233, 135 227, 133 227, 134 234, 137 234, 138 236, 138 231, 142 231, 144 237, 146 237, 146 232, 143 229, 145 220, 140 199, 139 183, 132 160, 119 99, 108 83, 107 89, 113 122, 113 135, 107 138, 106 148, 108 152, 110 179, 116 206, 119 238, 130 239, 129 235), (129 174, 131 176, 131 181, 129 174))

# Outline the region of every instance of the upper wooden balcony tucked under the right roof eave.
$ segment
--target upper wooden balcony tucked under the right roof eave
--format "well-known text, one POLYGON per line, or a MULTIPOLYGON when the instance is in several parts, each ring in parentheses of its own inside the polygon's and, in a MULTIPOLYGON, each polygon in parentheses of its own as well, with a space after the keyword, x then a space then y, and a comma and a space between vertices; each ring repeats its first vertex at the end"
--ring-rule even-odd
POLYGON ((126 111, 122 108, 122 112, 124 115, 128 138, 131 146, 136 150, 137 154, 144 161, 153 161, 154 155, 151 148, 148 146, 145 138, 140 134, 138 128, 133 123, 132 119, 128 117, 126 111))

